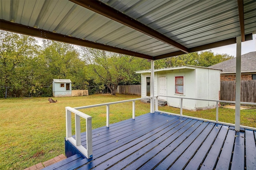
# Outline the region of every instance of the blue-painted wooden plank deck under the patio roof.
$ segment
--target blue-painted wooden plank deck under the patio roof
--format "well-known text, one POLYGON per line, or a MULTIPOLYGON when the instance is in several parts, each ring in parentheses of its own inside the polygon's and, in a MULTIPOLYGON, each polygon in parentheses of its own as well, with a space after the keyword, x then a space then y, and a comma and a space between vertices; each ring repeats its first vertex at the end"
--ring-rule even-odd
MULTIPOLYGON (((256 170, 256 131, 161 113, 148 113, 92 131, 93 157, 48 169, 256 170)), ((85 133, 82 145, 86 145, 85 133)))

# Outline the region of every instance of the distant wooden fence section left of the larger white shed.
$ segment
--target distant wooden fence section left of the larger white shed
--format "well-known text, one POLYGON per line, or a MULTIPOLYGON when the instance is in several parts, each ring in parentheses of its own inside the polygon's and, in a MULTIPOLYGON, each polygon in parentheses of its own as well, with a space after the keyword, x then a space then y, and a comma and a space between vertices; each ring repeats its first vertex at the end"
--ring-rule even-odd
POLYGON ((141 85, 118 86, 116 93, 140 96, 141 95, 141 85))

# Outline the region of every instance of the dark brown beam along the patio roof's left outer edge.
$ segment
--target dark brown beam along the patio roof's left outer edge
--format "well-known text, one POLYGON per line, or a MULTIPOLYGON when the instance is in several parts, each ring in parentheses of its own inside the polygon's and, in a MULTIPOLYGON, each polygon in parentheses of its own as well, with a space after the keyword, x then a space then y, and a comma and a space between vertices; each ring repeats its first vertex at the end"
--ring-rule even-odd
POLYGON ((114 52, 114 53, 120 53, 120 54, 124 54, 124 55, 140 57, 140 58, 144 58, 144 59, 150 59, 150 60, 153 59, 153 57, 150 55, 145 55, 142 53, 137 53, 137 52, 129 51, 126 49, 120 49, 117 47, 111 47, 109 45, 104 45, 104 44, 95 43, 92 41, 87 41, 84 39, 79 39, 76 37, 70 37, 67 35, 53 33, 50 31, 37 29, 34 27, 29 27, 29 26, 25 26, 25 25, 13 23, 13 22, 5 21, 5 20, 0 20, 0 29, 3 29, 5 31, 20 33, 20 34, 30 35, 33 37, 51 39, 54 41, 60 41, 60 42, 64 42, 64 43, 70 43, 70 44, 74 44, 74 45, 80 45, 80 46, 84 46, 84 47, 90 47, 90 48, 110 51, 110 52, 114 52))

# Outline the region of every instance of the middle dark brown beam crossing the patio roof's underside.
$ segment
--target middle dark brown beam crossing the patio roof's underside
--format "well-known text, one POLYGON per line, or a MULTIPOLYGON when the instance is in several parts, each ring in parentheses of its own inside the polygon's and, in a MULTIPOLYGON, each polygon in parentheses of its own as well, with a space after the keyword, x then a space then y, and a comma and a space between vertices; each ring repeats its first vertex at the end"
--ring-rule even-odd
POLYGON ((103 15, 107 18, 110 18, 111 20, 117 21, 128 27, 131 27, 132 29, 140 31, 150 37, 158 39, 159 41, 162 41, 177 49, 180 49, 185 53, 188 53, 188 48, 185 47, 184 45, 170 39, 169 37, 166 37, 165 35, 159 33, 158 31, 155 31, 154 29, 144 25, 143 23, 140 23, 139 21, 134 20, 133 18, 123 14, 122 12, 119 12, 118 10, 115 10, 114 8, 111 8, 110 6, 98 0, 70 0, 70 1, 80 6, 83 6, 84 8, 92 10, 93 12, 96 12, 100 15, 103 15))

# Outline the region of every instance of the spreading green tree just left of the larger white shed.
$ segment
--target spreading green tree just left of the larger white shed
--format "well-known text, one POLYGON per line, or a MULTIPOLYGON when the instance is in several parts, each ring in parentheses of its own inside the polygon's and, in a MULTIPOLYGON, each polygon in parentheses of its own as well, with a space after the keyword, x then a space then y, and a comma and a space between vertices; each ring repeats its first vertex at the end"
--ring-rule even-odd
POLYGON ((139 83, 140 79, 138 79, 135 71, 140 64, 140 68, 149 65, 145 59, 98 49, 80 48, 83 52, 83 58, 91 70, 91 75, 94 76, 94 80, 106 84, 112 95, 116 95, 116 89, 119 84, 139 83))

